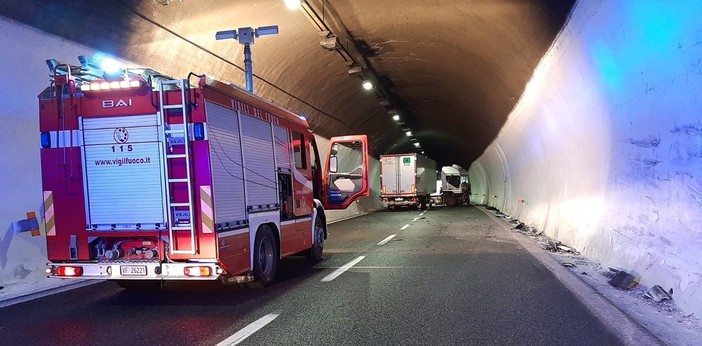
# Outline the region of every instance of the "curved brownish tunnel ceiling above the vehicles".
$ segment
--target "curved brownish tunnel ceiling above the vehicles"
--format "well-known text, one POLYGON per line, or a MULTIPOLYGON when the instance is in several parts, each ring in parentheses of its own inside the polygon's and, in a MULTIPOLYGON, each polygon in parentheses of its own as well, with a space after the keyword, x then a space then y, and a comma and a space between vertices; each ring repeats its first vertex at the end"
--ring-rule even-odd
POLYGON ((410 129, 439 165, 467 167, 497 135, 574 0, 307 4, 305 11, 283 0, 6 0, 0 15, 164 74, 239 85, 243 47, 215 33, 278 25, 278 35, 252 46, 256 94, 306 115, 320 135, 368 134, 375 155, 417 151, 403 130, 410 129), (322 29, 341 50, 321 48, 322 29), (375 90, 349 75, 352 61, 375 90), (404 124, 392 120, 392 109, 404 124))

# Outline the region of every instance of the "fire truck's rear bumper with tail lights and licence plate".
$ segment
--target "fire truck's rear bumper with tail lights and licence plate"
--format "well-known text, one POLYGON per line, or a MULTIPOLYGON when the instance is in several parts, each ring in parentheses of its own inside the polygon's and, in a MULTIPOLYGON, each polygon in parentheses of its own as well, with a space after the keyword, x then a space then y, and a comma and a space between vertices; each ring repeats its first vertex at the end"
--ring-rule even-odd
POLYGON ((50 278, 93 280, 217 280, 224 270, 216 261, 111 261, 48 263, 50 278))

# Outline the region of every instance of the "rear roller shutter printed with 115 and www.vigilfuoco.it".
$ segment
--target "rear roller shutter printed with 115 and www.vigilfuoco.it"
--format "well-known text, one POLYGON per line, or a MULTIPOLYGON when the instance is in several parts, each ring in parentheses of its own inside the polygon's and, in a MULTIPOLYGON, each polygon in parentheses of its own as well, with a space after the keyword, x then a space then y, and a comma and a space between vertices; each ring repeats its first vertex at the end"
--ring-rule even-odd
POLYGON ((163 182, 155 114, 83 118, 89 224, 163 224, 163 182))

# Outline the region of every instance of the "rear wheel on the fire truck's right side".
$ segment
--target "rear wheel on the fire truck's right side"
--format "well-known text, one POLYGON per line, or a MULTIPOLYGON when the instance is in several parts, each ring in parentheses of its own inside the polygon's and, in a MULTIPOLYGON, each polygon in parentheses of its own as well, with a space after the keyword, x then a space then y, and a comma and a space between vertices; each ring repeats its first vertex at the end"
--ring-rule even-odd
POLYGON ((278 247, 271 228, 263 225, 256 232, 254 242, 253 287, 264 287, 273 283, 278 269, 278 247))

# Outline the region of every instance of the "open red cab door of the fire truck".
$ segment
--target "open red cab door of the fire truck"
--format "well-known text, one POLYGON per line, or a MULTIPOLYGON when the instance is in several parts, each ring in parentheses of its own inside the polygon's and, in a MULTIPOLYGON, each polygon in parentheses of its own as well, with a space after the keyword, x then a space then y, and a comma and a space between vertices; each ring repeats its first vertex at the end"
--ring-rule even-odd
POLYGON ((326 209, 346 209, 358 197, 368 196, 368 137, 332 137, 322 176, 326 209))

